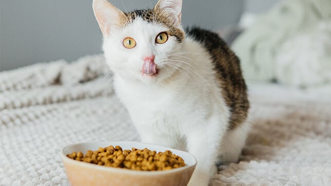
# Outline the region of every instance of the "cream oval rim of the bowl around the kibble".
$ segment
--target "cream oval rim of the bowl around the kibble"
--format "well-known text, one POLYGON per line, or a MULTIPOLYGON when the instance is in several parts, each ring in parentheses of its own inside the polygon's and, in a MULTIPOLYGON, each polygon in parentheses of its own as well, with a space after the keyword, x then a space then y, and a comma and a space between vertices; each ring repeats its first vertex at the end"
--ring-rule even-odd
MULTIPOLYGON (((149 147, 146 147, 146 148, 149 148, 149 147)), ((63 163, 64 163, 64 160, 66 160, 66 161, 69 161, 70 163, 81 165, 81 166, 84 166, 84 167, 90 168, 90 169, 99 169, 99 170, 108 171, 108 172, 120 172, 120 173, 123 173, 123 174, 139 174, 139 175, 151 175, 151 174, 161 175, 161 174, 175 173, 175 172, 180 172, 182 170, 186 170, 186 169, 195 167, 196 164, 197 164, 196 158, 192 154, 190 154, 188 152, 176 150, 174 148, 169 148, 169 147, 165 147, 165 146, 161 146, 161 145, 157 145, 157 144, 143 143, 143 142, 139 142, 139 141, 109 141, 109 142, 97 141, 97 142, 72 143, 72 144, 66 145, 65 147, 62 148, 62 150, 60 152, 60 156, 62 158, 62 162, 63 163), (83 161, 77 161, 77 160, 73 160, 73 159, 67 157, 66 154, 64 153, 64 151, 66 150, 66 148, 68 148, 70 146, 73 146, 73 145, 94 144, 94 143, 96 143, 96 144, 97 143, 108 143, 109 145, 112 145, 112 143, 121 143, 121 142, 147 144, 147 145, 152 145, 152 146, 156 146, 156 147, 166 148, 167 150, 172 151, 172 153, 174 153, 174 154, 176 154, 175 152, 184 153, 184 154, 187 154, 188 156, 192 157, 193 160, 194 160, 194 163, 191 164, 191 165, 188 165, 188 164, 185 163, 185 166, 181 166, 180 168, 175 168, 175 169, 165 170, 165 171, 138 171, 138 170, 130 170, 130 169, 113 168, 113 167, 109 167, 109 166, 102 166, 102 165, 97 165, 97 164, 93 164, 93 163, 87 163, 87 162, 83 162, 83 161)))

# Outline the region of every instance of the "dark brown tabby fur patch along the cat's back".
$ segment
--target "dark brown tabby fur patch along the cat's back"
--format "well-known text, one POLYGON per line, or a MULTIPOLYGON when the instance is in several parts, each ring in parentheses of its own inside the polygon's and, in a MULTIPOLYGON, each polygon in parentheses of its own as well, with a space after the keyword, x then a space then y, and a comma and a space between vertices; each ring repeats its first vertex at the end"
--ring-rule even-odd
POLYGON ((217 33, 192 27, 186 29, 188 38, 200 43, 210 54, 213 69, 222 88, 222 95, 230 108, 230 129, 247 118, 249 102, 242 76, 240 60, 217 33))

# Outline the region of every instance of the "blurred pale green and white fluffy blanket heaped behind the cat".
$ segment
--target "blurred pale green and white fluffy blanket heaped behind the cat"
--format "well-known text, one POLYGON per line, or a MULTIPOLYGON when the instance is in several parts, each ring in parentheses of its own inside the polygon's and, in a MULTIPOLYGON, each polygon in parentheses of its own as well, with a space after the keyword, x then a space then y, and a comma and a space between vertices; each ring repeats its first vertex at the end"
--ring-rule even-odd
POLYGON ((282 0, 233 42, 245 79, 331 85, 331 1, 282 0))

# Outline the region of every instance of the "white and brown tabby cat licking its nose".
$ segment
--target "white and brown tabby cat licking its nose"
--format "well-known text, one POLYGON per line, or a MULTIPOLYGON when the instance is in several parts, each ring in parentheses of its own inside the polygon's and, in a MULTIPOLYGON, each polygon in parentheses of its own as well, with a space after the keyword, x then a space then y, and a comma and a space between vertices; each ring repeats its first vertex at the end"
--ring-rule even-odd
POLYGON ((142 142, 185 150, 197 165, 189 185, 208 185, 219 162, 236 162, 249 130, 240 60, 216 33, 181 25, 182 0, 122 12, 93 9, 114 88, 142 142))

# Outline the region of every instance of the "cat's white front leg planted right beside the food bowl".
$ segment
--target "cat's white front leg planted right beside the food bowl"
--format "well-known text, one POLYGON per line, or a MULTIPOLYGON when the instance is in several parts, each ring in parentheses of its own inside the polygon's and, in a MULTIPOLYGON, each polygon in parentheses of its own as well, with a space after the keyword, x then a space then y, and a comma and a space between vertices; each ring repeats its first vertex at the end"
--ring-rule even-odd
POLYGON ((207 186, 209 180, 216 173, 215 160, 218 155, 218 147, 226 132, 219 127, 219 123, 197 127, 187 136, 188 152, 197 160, 196 168, 188 185, 207 186), (218 125, 218 126, 217 126, 218 125))

